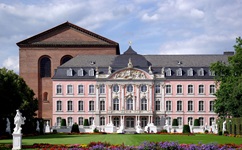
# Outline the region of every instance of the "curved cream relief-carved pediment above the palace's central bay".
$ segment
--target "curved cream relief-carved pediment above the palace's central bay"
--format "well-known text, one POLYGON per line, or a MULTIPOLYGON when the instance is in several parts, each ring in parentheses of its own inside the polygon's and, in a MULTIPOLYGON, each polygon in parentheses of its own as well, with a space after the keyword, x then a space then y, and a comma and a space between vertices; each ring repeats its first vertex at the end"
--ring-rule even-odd
POLYGON ((147 79, 147 75, 144 71, 138 70, 138 69, 125 69, 122 71, 119 71, 112 75, 112 79, 129 79, 129 80, 135 80, 135 79, 147 79))

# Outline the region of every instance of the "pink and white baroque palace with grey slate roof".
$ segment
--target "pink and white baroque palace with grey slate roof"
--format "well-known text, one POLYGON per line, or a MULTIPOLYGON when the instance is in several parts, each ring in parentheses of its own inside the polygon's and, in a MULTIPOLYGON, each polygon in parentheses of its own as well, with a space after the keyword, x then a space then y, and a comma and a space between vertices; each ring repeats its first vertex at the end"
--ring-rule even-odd
POLYGON ((140 55, 131 46, 121 55, 78 55, 59 66, 53 76, 52 122, 60 126, 97 126, 110 122, 125 129, 139 120, 162 128, 178 119, 179 126, 212 125, 216 85, 213 62, 228 61, 222 55, 140 55), (167 120, 167 121, 166 121, 167 120))

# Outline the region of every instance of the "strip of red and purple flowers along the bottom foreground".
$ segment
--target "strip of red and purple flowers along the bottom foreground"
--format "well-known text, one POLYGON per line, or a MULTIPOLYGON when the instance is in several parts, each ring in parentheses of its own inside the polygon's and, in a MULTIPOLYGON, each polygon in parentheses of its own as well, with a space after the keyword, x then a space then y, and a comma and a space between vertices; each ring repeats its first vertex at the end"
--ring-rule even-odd
MULTIPOLYGON (((11 149, 11 144, 1 145, 0 149, 11 149)), ((179 144, 177 142, 143 142, 139 146, 111 145, 107 142, 91 142, 85 144, 33 144, 23 145, 23 149, 41 150, 233 150, 242 149, 235 144, 179 144)))

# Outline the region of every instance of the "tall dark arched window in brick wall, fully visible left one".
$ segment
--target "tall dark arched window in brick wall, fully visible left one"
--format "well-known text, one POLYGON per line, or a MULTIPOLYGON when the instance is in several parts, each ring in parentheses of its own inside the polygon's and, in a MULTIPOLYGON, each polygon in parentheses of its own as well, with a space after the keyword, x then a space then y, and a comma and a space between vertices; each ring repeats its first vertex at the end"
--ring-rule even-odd
POLYGON ((51 61, 48 57, 43 57, 40 59, 40 77, 50 77, 51 76, 51 61))

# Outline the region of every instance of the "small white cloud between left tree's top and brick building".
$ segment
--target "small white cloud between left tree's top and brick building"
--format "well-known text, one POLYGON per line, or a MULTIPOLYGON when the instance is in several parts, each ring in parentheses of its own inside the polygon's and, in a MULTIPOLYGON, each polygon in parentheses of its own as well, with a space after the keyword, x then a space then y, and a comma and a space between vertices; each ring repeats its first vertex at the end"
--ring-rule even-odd
POLYGON ((13 70, 16 73, 19 73, 19 57, 18 56, 10 56, 3 61, 3 67, 8 70, 13 70))

